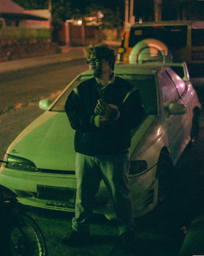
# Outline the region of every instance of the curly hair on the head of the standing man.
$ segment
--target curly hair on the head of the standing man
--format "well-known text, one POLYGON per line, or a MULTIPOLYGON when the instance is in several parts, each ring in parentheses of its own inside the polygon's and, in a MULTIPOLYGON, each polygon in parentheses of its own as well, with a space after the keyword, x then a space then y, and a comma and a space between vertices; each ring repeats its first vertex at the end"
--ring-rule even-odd
POLYGON ((109 62, 112 70, 115 67, 115 51, 111 49, 105 43, 98 45, 89 45, 84 49, 84 55, 86 59, 90 58, 91 54, 95 54, 99 59, 104 59, 109 62))

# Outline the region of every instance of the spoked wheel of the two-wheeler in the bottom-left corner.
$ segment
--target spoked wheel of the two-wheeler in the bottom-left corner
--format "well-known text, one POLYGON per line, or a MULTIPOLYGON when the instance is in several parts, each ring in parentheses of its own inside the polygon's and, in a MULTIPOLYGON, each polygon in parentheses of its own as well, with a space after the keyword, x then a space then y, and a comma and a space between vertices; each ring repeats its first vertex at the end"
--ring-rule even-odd
POLYGON ((47 256, 46 244, 38 224, 27 214, 21 217, 24 224, 11 230, 10 255, 47 256))

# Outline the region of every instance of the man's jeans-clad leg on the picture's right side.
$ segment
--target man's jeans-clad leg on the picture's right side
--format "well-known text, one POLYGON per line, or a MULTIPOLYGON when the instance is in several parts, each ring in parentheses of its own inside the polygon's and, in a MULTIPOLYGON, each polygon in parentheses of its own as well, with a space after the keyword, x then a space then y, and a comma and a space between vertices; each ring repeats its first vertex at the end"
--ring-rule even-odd
POLYGON ((133 208, 129 189, 129 154, 100 156, 104 183, 113 196, 115 213, 119 222, 119 234, 133 232, 133 208))

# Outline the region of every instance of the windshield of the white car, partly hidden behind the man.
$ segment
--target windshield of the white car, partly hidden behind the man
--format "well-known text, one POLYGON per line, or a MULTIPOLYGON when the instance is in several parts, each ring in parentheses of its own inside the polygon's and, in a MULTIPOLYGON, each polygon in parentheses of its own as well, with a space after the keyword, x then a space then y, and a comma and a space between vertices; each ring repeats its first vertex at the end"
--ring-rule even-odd
MULTIPOLYGON (((157 93, 154 75, 136 75, 136 74, 116 74, 117 76, 131 82, 140 91, 142 104, 146 114, 157 114, 157 93)), ((76 79, 69 88, 59 97, 59 99, 52 106, 51 111, 64 112, 64 105, 69 93, 78 86, 81 82, 90 79, 91 75, 81 75, 76 79)))

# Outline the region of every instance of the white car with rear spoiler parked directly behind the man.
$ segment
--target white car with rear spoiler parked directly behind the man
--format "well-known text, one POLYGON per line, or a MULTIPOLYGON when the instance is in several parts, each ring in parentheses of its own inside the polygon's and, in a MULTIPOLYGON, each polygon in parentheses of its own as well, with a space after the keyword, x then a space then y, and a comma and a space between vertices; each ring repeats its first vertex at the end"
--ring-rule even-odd
MULTIPOLYGON (((151 211, 171 189, 173 165, 197 136, 201 105, 186 63, 121 64, 115 66, 115 73, 137 86, 146 111, 140 125, 131 131, 129 148, 129 182, 137 217, 151 211)), ((52 104, 41 100, 40 108, 46 111, 7 149, 0 184, 13 190, 22 204, 74 211, 75 131, 64 104, 73 88, 91 77, 89 70, 80 74, 52 104)), ((103 181, 94 212, 115 218, 103 181)))

